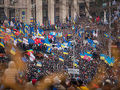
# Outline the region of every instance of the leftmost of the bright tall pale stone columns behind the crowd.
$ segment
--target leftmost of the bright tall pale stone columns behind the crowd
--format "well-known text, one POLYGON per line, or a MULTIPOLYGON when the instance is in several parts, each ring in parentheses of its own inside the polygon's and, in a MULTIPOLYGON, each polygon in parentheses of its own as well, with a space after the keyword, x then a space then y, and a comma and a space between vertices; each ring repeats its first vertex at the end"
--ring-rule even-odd
POLYGON ((42 0, 36 0, 36 21, 43 23, 43 15, 42 15, 42 0))

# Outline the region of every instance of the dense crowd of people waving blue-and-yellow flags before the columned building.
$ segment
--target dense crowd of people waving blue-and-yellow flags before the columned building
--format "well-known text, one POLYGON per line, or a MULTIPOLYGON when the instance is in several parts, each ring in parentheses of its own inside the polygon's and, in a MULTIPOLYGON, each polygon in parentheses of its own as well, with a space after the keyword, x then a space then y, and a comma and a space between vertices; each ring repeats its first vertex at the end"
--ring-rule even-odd
MULTIPOLYGON (((11 43, 11 55, 14 56, 15 49, 19 48, 23 54, 21 60, 27 65, 19 73, 19 78, 24 77, 24 80, 32 81, 34 85, 51 73, 69 73, 68 69, 74 68, 79 69, 79 74, 69 73, 69 78, 72 78, 69 80, 71 87, 68 85, 67 88, 81 90, 79 87, 88 85, 94 79, 100 65, 105 66, 106 72, 111 72, 112 76, 111 62, 101 60, 101 54, 108 55, 106 43, 109 37, 103 30, 104 26, 98 28, 89 19, 48 26, 51 30, 44 30, 46 27, 38 24, 33 26, 20 23, 15 19, 1 25, 0 52, 5 53, 7 43, 11 43)), ((4 60, 1 61, 6 62, 4 60)), ((106 78, 111 77, 108 75, 106 78)))

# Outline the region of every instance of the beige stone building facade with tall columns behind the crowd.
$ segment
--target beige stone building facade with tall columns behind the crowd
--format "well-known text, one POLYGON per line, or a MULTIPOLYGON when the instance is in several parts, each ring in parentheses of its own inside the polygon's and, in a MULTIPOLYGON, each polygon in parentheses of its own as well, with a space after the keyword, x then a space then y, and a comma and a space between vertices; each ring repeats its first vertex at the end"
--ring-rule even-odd
MULTIPOLYGON (((86 0, 87 6, 92 0, 86 0)), ((0 0, 0 20, 16 18, 30 24, 55 24, 66 22, 66 18, 74 20, 76 16, 89 13, 84 0, 0 0)))

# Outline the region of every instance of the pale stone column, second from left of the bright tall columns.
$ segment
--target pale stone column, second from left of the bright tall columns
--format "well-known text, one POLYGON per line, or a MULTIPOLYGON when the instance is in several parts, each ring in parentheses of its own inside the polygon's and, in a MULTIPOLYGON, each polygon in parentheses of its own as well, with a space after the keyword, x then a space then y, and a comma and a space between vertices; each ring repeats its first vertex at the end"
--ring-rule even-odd
POLYGON ((48 20, 54 24, 54 0, 48 0, 48 20))

